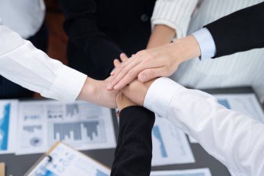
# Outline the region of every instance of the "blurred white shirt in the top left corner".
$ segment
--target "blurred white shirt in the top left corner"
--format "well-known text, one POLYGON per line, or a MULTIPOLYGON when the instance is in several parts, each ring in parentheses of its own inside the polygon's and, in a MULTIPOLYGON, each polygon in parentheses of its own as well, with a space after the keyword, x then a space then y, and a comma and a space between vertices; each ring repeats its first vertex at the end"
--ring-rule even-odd
POLYGON ((0 17, 3 24, 26 39, 35 35, 45 16, 43 0, 1 0, 0 17))

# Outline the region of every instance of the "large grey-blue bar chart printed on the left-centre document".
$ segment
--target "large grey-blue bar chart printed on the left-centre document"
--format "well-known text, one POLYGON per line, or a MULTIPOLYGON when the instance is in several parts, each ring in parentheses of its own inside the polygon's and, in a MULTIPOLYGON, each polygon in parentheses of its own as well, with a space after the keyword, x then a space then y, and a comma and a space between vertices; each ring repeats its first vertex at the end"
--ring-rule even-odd
POLYGON ((54 123, 51 127, 53 127, 52 141, 88 141, 90 143, 106 141, 102 120, 54 123))

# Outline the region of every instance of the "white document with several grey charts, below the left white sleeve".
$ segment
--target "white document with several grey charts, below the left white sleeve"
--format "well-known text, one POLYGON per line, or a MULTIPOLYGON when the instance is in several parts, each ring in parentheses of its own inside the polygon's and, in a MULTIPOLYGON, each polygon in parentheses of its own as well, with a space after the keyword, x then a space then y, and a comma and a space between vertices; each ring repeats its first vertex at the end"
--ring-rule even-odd
POLYGON ((44 152, 56 141, 77 150, 116 146, 110 109, 81 101, 20 102, 17 134, 17 154, 44 152))

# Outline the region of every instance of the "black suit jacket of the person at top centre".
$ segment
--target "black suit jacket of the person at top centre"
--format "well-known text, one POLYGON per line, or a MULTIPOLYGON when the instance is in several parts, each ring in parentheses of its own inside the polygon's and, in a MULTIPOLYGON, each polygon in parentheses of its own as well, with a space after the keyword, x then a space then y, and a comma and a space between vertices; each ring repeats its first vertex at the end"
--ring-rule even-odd
POLYGON ((60 0, 69 36, 69 66, 105 79, 124 51, 145 49, 156 0, 60 0))

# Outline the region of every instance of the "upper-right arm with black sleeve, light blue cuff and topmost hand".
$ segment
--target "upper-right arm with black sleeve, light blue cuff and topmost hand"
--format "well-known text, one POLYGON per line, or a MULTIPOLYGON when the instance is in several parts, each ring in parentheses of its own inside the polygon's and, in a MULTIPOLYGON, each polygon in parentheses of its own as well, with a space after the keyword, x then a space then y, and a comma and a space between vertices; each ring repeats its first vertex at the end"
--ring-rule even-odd
POLYGON ((201 56, 208 43, 215 45, 211 51, 213 58, 264 47, 263 19, 264 2, 204 26, 208 32, 202 36, 194 33, 169 45, 139 51, 111 73, 113 79, 110 80, 108 90, 124 88, 136 77, 142 82, 156 77, 168 77, 183 61, 201 56))

